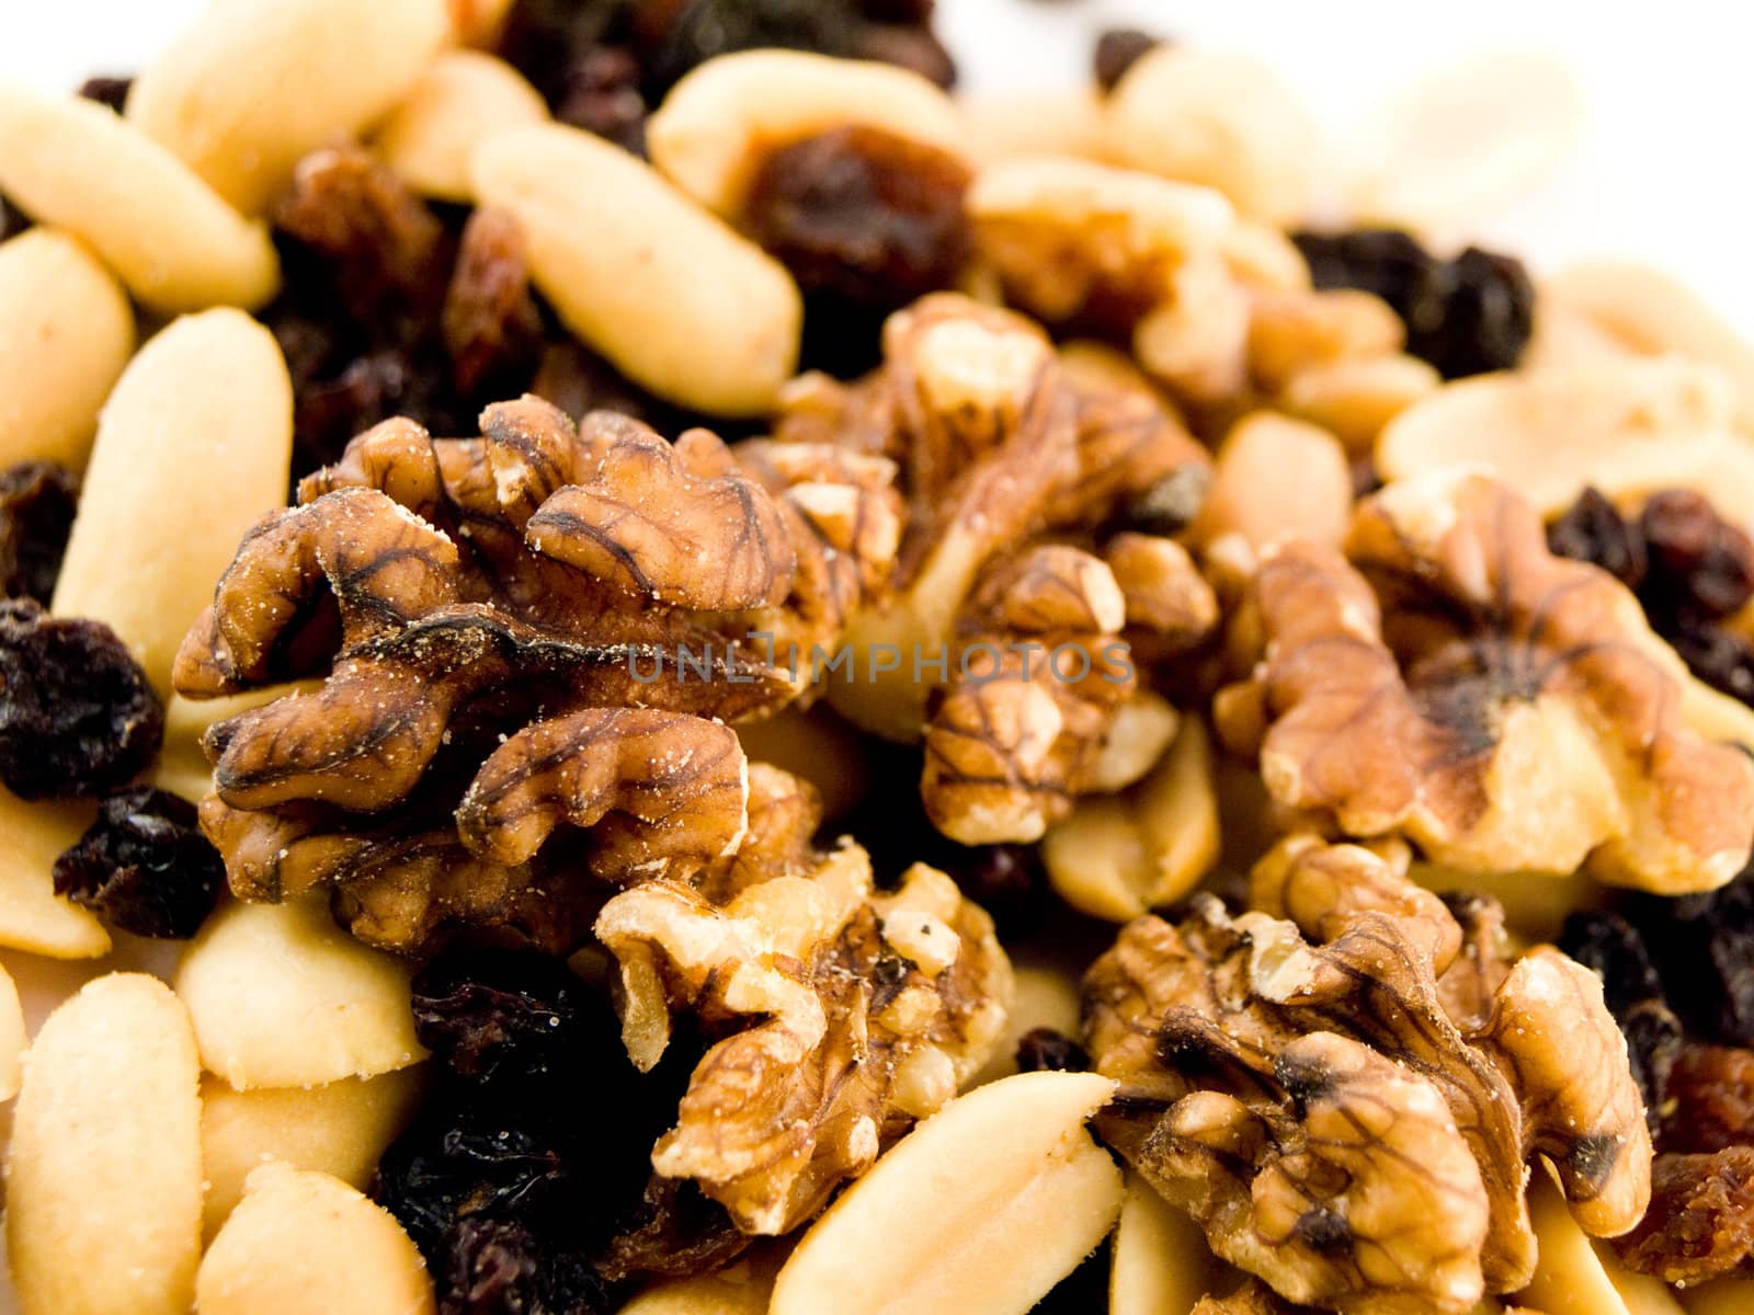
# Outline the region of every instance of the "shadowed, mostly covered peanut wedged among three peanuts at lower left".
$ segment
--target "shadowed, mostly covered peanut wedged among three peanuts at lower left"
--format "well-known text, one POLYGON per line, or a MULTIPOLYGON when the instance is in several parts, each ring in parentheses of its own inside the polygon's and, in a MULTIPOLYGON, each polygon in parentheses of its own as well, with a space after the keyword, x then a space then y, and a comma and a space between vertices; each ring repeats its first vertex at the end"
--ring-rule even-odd
POLYGON ((268 1161, 317 1169, 365 1191, 384 1147, 419 1099, 423 1071, 403 1068, 375 1078, 321 1087, 237 1091, 223 1078, 202 1082, 202 1168, 207 1175, 205 1234, 212 1238, 244 1198, 244 1180, 268 1161))

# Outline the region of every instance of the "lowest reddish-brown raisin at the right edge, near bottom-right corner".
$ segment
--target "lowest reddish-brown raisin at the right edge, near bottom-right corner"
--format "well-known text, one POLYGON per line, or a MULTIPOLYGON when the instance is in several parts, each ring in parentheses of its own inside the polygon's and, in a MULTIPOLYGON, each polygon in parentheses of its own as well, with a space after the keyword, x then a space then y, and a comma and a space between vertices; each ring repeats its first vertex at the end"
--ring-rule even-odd
POLYGON ((1651 1210, 1614 1248, 1629 1268, 1668 1283, 1743 1271, 1754 1259, 1754 1147, 1658 1155, 1651 1210))

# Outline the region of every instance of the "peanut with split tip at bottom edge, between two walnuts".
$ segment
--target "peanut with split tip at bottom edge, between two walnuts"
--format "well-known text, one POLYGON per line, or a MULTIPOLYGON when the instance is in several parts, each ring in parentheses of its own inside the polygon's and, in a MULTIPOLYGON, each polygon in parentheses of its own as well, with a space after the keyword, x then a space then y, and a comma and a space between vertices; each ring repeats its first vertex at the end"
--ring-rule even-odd
POLYGON ((810 1226, 772 1315, 1023 1315, 1121 1210, 1121 1173, 1084 1131, 1112 1092, 1019 1073, 951 1101, 810 1226))

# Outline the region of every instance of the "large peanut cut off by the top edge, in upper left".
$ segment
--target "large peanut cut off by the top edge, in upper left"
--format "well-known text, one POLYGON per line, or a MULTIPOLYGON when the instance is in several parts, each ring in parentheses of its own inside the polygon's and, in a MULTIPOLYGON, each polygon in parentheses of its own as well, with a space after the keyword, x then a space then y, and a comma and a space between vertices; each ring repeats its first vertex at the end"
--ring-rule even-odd
POLYGON ((451 28, 446 0, 226 0, 135 79, 128 119, 244 214, 319 146, 402 100, 451 28))

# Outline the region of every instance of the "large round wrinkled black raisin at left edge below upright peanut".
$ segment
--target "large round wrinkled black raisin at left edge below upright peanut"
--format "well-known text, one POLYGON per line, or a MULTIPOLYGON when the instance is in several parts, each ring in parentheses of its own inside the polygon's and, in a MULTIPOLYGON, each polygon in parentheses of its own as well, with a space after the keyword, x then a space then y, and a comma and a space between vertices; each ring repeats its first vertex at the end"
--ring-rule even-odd
POLYGON ((116 631, 0 603, 0 780, 21 800, 105 794, 139 775, 165 710, 116 631))

